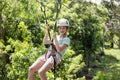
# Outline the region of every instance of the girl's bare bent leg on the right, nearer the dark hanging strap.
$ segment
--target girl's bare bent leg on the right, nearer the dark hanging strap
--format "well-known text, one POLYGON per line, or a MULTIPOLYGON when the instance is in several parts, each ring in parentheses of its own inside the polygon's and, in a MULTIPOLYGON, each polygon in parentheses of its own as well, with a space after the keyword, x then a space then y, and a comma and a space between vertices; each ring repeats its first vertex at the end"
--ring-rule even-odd
POLYGON ((39 69, 38 74, 41 80, 47 80, 45 73, 50 70, 54 65, 54 59, 51 57, 49 58, 44 65, 39 69), (51 62, 52 60, 52 62, 51 62))

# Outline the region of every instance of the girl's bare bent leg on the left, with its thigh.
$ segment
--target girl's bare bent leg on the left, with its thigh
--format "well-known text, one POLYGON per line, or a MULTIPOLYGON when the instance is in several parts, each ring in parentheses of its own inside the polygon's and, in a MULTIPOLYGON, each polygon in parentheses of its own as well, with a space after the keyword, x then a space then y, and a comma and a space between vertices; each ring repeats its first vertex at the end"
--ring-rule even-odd
POLYGON ((43 61, 42 58, 40 57, 29 67, 28 80, 34 80, 35 71, 42 67, 44 63, 45 61, 43 61))

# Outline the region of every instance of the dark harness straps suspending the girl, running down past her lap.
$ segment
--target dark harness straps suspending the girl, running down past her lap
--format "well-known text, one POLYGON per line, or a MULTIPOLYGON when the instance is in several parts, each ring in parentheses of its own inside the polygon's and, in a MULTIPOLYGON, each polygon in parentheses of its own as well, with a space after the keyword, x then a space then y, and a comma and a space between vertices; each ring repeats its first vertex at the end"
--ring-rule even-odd
MULTIPOLYGON (((60 12, 60 9, 61 9, 61 6, 62 6, 62 2, 61 0, 57 0, 56 1, 56 16, 55 16, 55 24, 54 24, 54 32, 56 32, 56 23, 57 23, 57 20, 58 20, 58 15, 59 15, 59 12, 60 12)), ((47 17, 46 17, 46 9, 45 9, 45 5, 43 2, 41 2, 41 11, 43 12, 44 14, 44 19, 45 19, 45 24, 48 25, 48 21, 47 21, 47 17)), ((49 39, 51 40, 51 36, 50 36, 50 30, 48 29, 48 35, 49 35, 49 39)), ((52 39, 52 43, 53 43, 53 39, 52 39)), ((53 73, 54 73, 54 80, 56 79, 56 55, 55 55, 55 52, 57 52, 56 48, 55 48, 55 45, 54 44, 51 44, 52 46, 52 51, 54 51, 54 54, 52 54, 53 56, 53 59, 54 59, 54 69, 53 69, 53 73)), ((51 55, 50 55, 51 56, 51 55)))

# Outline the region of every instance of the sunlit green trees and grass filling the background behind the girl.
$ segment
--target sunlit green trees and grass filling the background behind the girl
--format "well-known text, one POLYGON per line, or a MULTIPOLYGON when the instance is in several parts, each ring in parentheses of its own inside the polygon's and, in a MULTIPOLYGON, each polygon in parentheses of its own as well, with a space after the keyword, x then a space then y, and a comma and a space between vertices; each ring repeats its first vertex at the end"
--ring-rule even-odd
MULTIPOLYGON (((42 0, 53 31, 57 0, 42 0)), ((47 48, 41 0, 0 0, 0 79, 26 80, 29 66, 47 48)), ((59 18, 70 21, 71 39, 56 80, 120 79, 120 0, 62 0, 59 18)), ((47 73, 53 80, 53 72, 47 73)), ((35 80, 39 80, 36 73, 35 80)))

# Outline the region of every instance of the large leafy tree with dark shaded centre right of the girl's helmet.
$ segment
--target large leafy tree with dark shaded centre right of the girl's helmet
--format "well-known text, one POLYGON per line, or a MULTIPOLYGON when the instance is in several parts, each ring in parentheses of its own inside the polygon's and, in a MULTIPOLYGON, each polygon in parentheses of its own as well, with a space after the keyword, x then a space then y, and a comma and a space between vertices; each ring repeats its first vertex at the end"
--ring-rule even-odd
MULTIPOLYGON (((62 15, 71 22, 69 36, 72 40, 71 47, 76 53, 73 57, 77 57, 79 54, 83 55, 83 61, 85 61, 87 70, 85 70, 86 72, 81 72, 81 74, 85 73, 84 75, 86 75, 89 73, 88 68, 92 66, 90 61, 95 61, 96 52, 101 52, 103 43, 102 30, 107 19, 107 9, 104 6, 84 1, 70 1, 68 4, 65 4, 63 10, 62 15)), ((72 69, 76 70, 75 77, 80 77, 80 75, 77 75, 81 71, 80 66, 79 69, 76 69, 75 66, 72 69)), ((70 73, 74 73, 73 71, 71 70, 70 73)))

